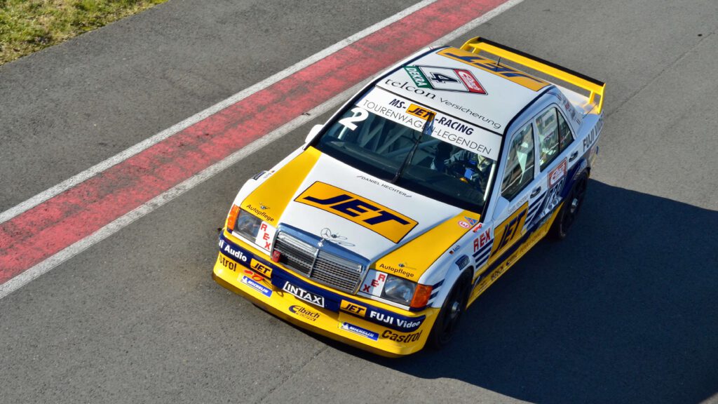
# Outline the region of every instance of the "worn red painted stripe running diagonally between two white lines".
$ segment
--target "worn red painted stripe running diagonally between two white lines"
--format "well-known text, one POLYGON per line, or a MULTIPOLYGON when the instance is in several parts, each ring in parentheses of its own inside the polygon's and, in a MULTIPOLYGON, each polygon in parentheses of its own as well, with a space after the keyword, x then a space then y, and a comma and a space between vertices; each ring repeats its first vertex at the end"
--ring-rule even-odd
POLYGON ((0 284, 505 1, 439 0, 0 224, 0 284))

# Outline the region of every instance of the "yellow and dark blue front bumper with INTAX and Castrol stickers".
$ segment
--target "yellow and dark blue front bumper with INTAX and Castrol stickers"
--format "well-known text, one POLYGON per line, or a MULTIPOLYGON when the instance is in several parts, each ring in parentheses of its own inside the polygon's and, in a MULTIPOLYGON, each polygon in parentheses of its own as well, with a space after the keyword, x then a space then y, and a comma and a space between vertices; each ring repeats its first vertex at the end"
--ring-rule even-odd
POLYGON ((266 254, 226 231, 220 237, 220 253, 212 277, 285 321, 384 357, 401 357, 423 348, 439 312, 438 308, 426 308, 419 313, 402 311, 327 289, 266 260, 266 254), (283 290, 286 283, 320 295, 325 307, 283 290))

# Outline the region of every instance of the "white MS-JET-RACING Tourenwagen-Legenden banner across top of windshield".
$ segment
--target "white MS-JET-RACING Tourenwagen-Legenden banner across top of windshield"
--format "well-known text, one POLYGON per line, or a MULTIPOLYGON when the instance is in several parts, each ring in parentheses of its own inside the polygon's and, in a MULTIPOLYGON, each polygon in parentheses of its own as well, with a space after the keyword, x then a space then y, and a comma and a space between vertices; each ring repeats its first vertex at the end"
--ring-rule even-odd
POLYGON ((498 160, 501 137, 485 129, 469 124, 440 111, 429 111, 381 88, 374 88, 352 109, 354 116, 341 119, 340 123, 355 130, 359 121, 368 118, 368 112, 383 116, 397 124, 420 131, 430 112, 435 112, 432 137, 475 152, 491 160, 498 160))

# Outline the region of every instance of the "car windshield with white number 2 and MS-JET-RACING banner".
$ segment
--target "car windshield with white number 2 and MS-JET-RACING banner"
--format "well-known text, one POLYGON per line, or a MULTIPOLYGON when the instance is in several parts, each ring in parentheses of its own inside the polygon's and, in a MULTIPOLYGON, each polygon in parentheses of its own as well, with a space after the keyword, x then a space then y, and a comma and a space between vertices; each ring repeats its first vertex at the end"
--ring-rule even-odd
POLYGON ((474 129, 374 88, 328 124, 315 147, 408 190, 481 212, 495 162, 467 150, 484 151, 474 129))

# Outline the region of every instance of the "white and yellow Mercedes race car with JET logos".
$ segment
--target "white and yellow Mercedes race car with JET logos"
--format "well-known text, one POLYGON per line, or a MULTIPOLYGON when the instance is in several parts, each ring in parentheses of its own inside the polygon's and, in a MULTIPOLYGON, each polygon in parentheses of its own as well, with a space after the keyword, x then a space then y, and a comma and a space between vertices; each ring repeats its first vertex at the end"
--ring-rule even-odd
POLYGON ((369 352, 440 348, 528 249, 566 237, 604 89, 479 37, 421 50, 242 186, 213 278, 369 352))

